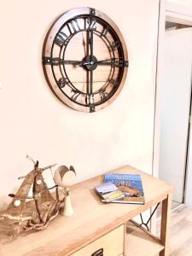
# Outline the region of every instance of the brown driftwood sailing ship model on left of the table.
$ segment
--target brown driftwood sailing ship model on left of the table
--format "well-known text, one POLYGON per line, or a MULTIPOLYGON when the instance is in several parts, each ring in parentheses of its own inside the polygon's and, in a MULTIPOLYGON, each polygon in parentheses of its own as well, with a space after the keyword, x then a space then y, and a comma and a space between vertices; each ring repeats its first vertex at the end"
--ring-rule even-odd
POLYGON ((11 236, 18 236, 24 230, 44 230, 63 211, 64 197, 60 200, 58 185, 48 188, 42 175, 55 165, 39 168, 38 161, 33 163, 34 169, 25 177, 19 177, 24 180, 17 193, 9 194, 13 199, 8 209, 0 213, 0 218, 7 219, 10 224, 11 236), (31 188, 32 196, 28 196, 31 188), (49 189, 55 189, 55 198, 49 189))

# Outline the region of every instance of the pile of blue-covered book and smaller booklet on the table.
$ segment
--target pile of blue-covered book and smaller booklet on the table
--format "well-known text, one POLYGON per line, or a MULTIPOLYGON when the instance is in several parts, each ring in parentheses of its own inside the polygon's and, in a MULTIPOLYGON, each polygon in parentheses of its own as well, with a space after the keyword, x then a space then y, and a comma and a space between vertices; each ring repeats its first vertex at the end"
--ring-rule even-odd
POLYGON ((144 204, 143 183, 139 174, 107 173, 96 187, 103 202, 144 204))

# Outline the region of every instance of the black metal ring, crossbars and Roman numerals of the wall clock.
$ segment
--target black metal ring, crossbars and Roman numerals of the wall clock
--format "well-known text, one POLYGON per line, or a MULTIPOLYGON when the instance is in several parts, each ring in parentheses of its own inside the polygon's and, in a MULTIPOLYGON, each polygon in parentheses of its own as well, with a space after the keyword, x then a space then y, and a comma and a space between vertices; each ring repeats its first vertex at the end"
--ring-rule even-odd
MULTIPOLYGON (((45 40, 45 44, 46 42, 47 42, 47 39, 45 40)), ((129 66, 129 62, 128 62, 127 53, 125 51, 125 44, 122 44, 122 38, 121 39, 119 38, 119 35, 113 29, 113 26, 111 26, 108 23, 108 21, 103 20, 101 17, 96 15, 95 9, 90 9, 89 14, 75 15, 73 18, 67 20, 61 25, 59 30, 55 33, 55 38, 52 42, 49 56, 46 54, 46 49, 44 49, 43 65, 44 65, 44 72, 48 80, 49 80, 49 75, 46 74, 46 66, 51 67, 52 75, 55 79, 55 84, 57 84, 58 88, 61 90, 61 93, 64 96, 66 96, 69 101, 75 103, 75 105, 78 104, 83 107, 87 107, 89 108, 90 112, 94 112, 96 110, 96 106, 102 105, 104 102, 108 102, 108 100, 113 95, 115 95, 116 91, 119 89, 119 85, 122 82, 125 69, 127 69, 127 67, 129 66), (78 23, 79 19, 84 19, 84 29, 80 28, 78 23), (89 24, 87 28, 86 28, 86 22, 89 24), (103 26, 102 32, 99 32, 98 30, 96 30, 97 23, 103 26), (67 34, 62 31, 63 27, 65 26, 67 26, 69 30, 73 28, 73 31, 71 31, 70 36, 67 36, 67 34), (70 44, 71 39, 79 32, 87 33, 88 55, 86 55, 82 61, 66 60, 65 53, 66 53, 67 45, 70 44), (108 36, 107 36, 108 32, 113 37, 113 43, 111 43, 108 39, 108 36), (104 42, 108 44, 107 47, 113 56, 112 58, 108 60, 102 60, 102 61, 97 60, 96 56, 93 53, 93 49, 94 49, 93 34, 96 34, 97 36, 103 38, 104 42), (53 55, 55 44, 61 47, 58 57, 54 57, 53 55), (119 53, 118 58, 115 57, 115 51, 118 51, 119 53), (86 92, 81 91, 75 87, 75 85, 72 83, 72 81, 67 75, 65 65, 77 65, 79 67, 86 69, 86 71, 89 73, 86 92), (61 79, 57 79, 55 76, 55 66, 60 67, 61 79), (102 86, 102 88, 100 88, 99 90, 93 91, 93 72, 98 66, 111 67, 111 71, 109 74, 110 79, 106 81, 106 84, 102 86), (113 79, 115 68, 119 68, 119 74, 117 79, 113 79), (113 90, 109 94, 106 92, 106 89, 108 88, 108 84, 113 84, 113 90), (63 90, 65 86, 69 86, 71 88, 71 91, 73 92, 73 96, 71 95, 68 96, 67 93, 65 93, 65 91, 63 90), (96 94, 100 95, 100 101, 98 102, 94 101, 96 94), (78 101, 79 96, 84 96, 84 102, 78 101)), ((50 84, 50 81, 49 81, 49 84, 50 84)))

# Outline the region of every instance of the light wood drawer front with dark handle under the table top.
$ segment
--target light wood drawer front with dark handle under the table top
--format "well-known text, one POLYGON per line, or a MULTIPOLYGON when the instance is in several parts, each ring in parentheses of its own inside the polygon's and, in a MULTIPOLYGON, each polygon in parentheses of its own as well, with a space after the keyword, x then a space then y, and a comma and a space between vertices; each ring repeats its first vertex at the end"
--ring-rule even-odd
POLYGON ((124 225, 91 242, 71 256, 119 256, 124 253, 124 225))

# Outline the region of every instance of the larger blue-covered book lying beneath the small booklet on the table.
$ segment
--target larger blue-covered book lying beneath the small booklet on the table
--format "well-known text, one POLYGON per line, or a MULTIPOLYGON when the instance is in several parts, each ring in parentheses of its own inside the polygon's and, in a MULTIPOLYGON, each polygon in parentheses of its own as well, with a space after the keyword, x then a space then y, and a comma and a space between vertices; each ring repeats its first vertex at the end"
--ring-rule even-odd
POLYGON ((112 182, 125 197, 111 202, 144 204, 143 183, 139 174, 107 173, 104 175, 104 183, 112 182))

